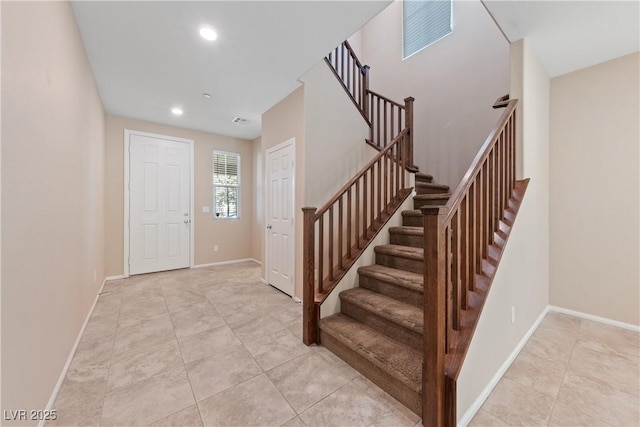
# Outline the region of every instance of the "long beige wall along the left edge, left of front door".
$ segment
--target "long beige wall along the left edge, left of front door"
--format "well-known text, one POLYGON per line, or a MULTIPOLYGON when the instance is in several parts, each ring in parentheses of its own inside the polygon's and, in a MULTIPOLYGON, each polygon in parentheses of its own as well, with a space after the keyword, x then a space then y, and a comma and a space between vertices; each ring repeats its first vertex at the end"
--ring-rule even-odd
POLYGON ((104 111, 70 4, 1 7, 2 410, 45 409, 105 276, 104 111))

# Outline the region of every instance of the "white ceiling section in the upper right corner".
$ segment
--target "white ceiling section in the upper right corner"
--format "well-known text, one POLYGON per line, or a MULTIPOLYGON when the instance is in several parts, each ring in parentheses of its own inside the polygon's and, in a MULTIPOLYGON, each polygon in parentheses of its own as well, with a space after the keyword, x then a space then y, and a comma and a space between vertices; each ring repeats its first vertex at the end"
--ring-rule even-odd
POLYGON ((509 41, 556 77, 640 50, 640 2, 484 0, 509 41))

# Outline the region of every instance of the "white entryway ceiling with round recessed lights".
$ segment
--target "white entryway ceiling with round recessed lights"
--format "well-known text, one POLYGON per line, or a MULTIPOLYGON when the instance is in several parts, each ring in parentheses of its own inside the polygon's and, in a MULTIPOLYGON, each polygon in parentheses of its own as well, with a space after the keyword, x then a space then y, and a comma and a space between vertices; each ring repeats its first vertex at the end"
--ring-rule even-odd
POLYGON ((75 1, 73 10, 108 114, 253 139, 262 113, 389 3, 75 1), (202 39, 202 25, 218 39, 202 39))

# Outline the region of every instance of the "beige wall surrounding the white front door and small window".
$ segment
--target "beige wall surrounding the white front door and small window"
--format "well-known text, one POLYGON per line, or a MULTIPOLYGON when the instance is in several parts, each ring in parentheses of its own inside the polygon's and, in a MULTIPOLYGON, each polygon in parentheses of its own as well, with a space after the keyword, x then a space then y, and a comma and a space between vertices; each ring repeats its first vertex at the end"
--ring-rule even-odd
POLYGON ((253 151, 252 142, 141 120, 107 116, 106 123, 106 265, 107 276, 124 271, 124 130, 137 130, 175 136, 194 141, 195 265, 251 258, 253 219, 253 151), (240 219, 213 217, 212 152, 240 154, 240 219), (209 213, 202 208, 209 207, 209 213), (214 252, 214 245, 219 251, 214 252))

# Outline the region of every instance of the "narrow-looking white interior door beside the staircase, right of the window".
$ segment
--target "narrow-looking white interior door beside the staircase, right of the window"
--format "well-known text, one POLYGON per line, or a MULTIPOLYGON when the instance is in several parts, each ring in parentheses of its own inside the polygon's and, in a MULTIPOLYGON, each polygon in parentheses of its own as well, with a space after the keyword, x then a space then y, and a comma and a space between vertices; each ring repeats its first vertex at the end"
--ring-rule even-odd
POLYGON ((294 292, 294 144, 288 141, 267 153, 268 283, 294 292))

